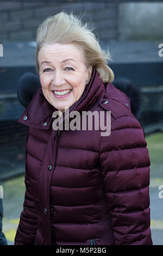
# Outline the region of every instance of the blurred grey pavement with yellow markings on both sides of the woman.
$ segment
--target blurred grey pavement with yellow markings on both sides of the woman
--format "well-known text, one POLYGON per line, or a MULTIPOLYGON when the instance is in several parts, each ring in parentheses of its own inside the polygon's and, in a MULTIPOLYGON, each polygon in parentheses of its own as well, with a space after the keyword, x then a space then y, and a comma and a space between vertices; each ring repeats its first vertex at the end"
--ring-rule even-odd
MULTIPOLYGON (((149 186, 151 231, 153 245, 163 245, 163 133, 146 136, 151 160, 149 186), (160 187, 162 186, 162 187, 160 187), (159 190, 159 187, 161 190, 159 190), (162 192, 161 192, 162 191, 162 192)), ((16 229, 24 202, 24 175, 4 181, 3 185, 3 232, 8 245, 14 245, 16 229)))

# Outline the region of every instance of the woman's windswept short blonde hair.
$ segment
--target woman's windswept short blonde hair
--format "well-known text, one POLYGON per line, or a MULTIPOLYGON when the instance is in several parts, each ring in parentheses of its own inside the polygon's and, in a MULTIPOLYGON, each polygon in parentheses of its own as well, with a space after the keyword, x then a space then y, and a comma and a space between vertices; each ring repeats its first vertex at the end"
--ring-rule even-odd
POLYGON ((87 68, 96 68, 103 82, 112 82, 114 73, 108 66, 109 50, 104 51, 99 46, 98 39, 92 32, 91 23, 82 23, 81 19, 71 12, 64 10, 54 16, 49 16, 37 28, 36 34, 36 72, 39 74, 38 55, 42 46, 46 44, 74 43, 83 50, 83 58, 87 68))

